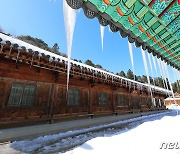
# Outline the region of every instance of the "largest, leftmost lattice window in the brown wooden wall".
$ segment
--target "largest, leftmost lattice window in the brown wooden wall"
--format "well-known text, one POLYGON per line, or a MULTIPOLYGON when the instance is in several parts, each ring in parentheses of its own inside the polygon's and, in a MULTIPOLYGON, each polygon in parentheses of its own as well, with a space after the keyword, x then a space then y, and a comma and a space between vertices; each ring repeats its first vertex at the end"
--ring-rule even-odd
POLYGON ((33 106, 35 99, 35 85, 13 84, 8 100, 9 107, 33 106))

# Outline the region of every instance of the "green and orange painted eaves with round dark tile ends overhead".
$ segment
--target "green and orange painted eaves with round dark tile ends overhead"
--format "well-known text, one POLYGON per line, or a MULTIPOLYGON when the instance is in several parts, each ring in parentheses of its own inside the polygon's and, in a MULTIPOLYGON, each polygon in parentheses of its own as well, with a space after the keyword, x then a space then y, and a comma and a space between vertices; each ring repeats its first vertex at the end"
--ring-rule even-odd
POLYGON ((136 47, 152 52, 180 70, 180 5, 178 0, 66 0, 73 9, 97 17, 136 47))

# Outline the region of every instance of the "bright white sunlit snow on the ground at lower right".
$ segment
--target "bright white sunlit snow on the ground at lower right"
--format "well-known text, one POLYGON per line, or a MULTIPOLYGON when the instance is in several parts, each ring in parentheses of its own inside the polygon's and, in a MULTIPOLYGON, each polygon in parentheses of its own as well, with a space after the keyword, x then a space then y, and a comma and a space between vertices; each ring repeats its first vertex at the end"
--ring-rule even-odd
POLYGON ((130 131, 116 133, 111 137, 96 137, 66 152, 66 154, 100 153, 180 154, 180 115, 147 121, 130 131))

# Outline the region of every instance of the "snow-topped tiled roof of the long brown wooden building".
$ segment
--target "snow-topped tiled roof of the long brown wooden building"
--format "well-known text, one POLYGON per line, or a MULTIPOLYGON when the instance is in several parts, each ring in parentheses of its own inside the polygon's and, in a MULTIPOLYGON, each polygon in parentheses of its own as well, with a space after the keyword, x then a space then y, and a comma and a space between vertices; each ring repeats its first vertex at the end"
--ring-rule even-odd
MULTIPOLYGON (((7 36, 7 35, 2 34, 2 33, 0 33, 0 45, 1 45, 0 50, 2 50, 3 46, 8 45, 10 48, 16 47, 19 50, 19 52, 21 52, 21 49, 23 49, 23 51, 25 50, 26 53, 30 52, 31 55, 33 55, 32 57, 35 57, 35 56, 44 57, 44 58, 48 59, 47 60, 48 62, 52 62, 52 61, 58 61, 58 62, 61 61, 62 62, 62 61, 64 61, 65 64, 68 63, 68 58, 62 57, 60 55, 54 54, 54 53, 46 51, 46 50, 43 50, 41 48, 38 48, 36 46, 33 46, 33 45, 28 44, 26 42, 23 42, 17 38, 13 38, 13 37, 7 36)), ((9 55, 9 53, 8 53, 8 55, 9 55)), ((18 55, 21 55, 21 53, 19 53, 18 55)), ((37 58, 37 59, 39 60, 40 58, 37 58)), ((131 85, 131 86, 136 85, 139 88, 145 87, 146 89, 151 88, 154 91, 159 91, 162 93, 171 94, 171 91, 169 91, 167 89, 160 88, 160 87, 157 87, 154 85, 148 85, 148 84, 140 83, 140 82, 137 82, 137 81, 134 81, 131 79, 127 79, 127 78, 115 75, 113 73, 110 73, 110 72, 107 72, 107 71, 104 71, 104 70, 101 70, 101 69, 98 69, 95 67, 91 67, 89 65, 86 65, 86 64, 74 61, 74 60, 70 60, 70 63, 71 63, 71 65, 78 66, 80 69, 85 68, 86 70, 100 74, 100 76, 104 76, 105 78, 110 78, 111 81, 117 80, 118 82, 126 82, 127 85, 131 85)))

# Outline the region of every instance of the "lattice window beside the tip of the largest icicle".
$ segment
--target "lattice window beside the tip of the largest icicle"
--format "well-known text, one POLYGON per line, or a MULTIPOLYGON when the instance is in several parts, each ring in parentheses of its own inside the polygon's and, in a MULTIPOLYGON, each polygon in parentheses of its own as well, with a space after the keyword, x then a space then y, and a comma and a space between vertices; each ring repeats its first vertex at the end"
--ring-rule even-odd
POLYGON ((78 89, 69 89, 67 104, 69 106, 78 106, 79 102, 80 102, 80 91, 78 89))

